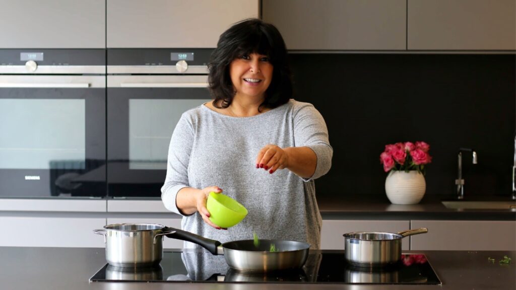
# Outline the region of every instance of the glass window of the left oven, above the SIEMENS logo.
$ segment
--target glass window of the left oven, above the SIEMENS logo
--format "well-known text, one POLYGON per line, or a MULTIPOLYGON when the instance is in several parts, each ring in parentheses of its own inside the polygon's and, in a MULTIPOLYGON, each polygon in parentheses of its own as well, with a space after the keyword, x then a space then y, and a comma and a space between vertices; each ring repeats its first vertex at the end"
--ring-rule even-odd
POLYGON ((84 99, 0 99, 0 169, 85 169, 84 99))

